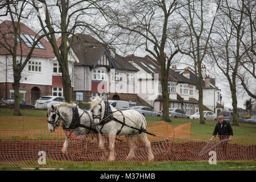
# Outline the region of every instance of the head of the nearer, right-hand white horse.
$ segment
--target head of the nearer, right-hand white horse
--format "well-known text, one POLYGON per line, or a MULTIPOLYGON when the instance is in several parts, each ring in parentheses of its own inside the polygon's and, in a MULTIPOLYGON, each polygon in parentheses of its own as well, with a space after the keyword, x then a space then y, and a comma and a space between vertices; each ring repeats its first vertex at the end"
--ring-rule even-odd
POLYGON ((92 112, 93 122, 96 125, 99 125, 100 121, 102 119, 101 118, 102 117, 102 107, 104 107, 102 104, 102 102, 103 102, 102 98, 97 96, 96 98, 94 98, 94 100, 92 100, 92 98, 90 98, 90 101, 92 102, 90 111, 92 112))

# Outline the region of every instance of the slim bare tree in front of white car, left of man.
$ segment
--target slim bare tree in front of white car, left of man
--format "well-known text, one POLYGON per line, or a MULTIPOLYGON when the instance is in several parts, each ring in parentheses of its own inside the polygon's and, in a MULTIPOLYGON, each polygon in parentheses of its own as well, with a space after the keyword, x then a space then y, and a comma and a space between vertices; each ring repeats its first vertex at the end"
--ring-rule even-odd
POLYGON ((181 50, 181 53, 188 55, 193 60, 197 89, 199 90, 200 124, 205 124, 203 113, 203 76, 201 69, 204 67, 203 61, 208 51, 208 42, 221 1, 215 1, 214 4, 211 2, 188 0, 187 5, 179 9, 179 15, 184 21, 180 31, 184 34, 183 40, 188 43, 181 50), (213 8, 215 9, 214 12, 210 13, 213 8))

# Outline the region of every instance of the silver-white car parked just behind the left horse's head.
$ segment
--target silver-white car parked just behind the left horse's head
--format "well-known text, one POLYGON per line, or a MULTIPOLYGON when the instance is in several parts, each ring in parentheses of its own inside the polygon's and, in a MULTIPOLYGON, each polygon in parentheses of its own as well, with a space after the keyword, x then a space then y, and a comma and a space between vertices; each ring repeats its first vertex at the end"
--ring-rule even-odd
MULTIPOLYGON (((61 96, 41 96, 35 102, 36 109, 47 109, 55 104, 60 104, 65 102, 65 98, 61 96)), ((73 103, 73 106, 78 106, 77 104, 73 103)))

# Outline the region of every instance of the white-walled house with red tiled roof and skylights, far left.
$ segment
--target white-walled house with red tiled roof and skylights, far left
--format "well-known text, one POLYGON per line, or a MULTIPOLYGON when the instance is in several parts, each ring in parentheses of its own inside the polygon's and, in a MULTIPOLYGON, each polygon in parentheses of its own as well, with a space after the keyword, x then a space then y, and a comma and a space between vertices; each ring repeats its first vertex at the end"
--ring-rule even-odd
MULTIPOLYGON (((17 58, 27 56, 30 47, 34 42, 36 32, 32 31, 25 24, 20 23, 20 39, 17 46, 17 58)), ((13 98, 13 55, 3 47, 13 46, 14 36, 12 22, 6 20, 0 24, 0 99, 13 98)), ((38 37, 38 35, 37 35, 38 37)), ((69 73, 73 83, 73 64, 77 61, 75 54, 69 53, 69 73)), ((73 84, 72 84, 73 85, 73 84)), ((34 104, 35 100, 45 95, 63 95, 61 72, 59 63, 53 53, 51 44, 44 38, 32 52, 30 61, 22 71, 20 80, 20 99, 27 103, 34 104)))

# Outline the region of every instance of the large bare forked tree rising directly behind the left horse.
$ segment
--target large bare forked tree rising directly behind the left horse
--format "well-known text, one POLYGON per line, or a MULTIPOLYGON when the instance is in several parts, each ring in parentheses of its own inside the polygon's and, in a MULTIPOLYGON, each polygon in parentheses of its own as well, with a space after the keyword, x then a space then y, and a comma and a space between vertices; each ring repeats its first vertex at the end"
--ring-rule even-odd
POLYGON ((75 35, 75 32, 80 27, 87 28, 87 30, 96 34, 97 27, 95 24, 97 24, 97 19, 93 16, 99 17, 99 14, 104 12, 103 7, 108 3, 110 2, 103 0, 32 1, 32 5, 38 12, 40 25, 44 34, 48 34, 47 39, 51 43, 53 52, 59 62, 62 73, 63 94, 66 102, 72 101, 71 78, 68 71, 68 51, 70 48, 68 38, 71 35, 75 35), (89 21, 90 19, 93 19, 93 21, 89 21), (61 32, 60 45, 57 43, 56 31, 61 32))

